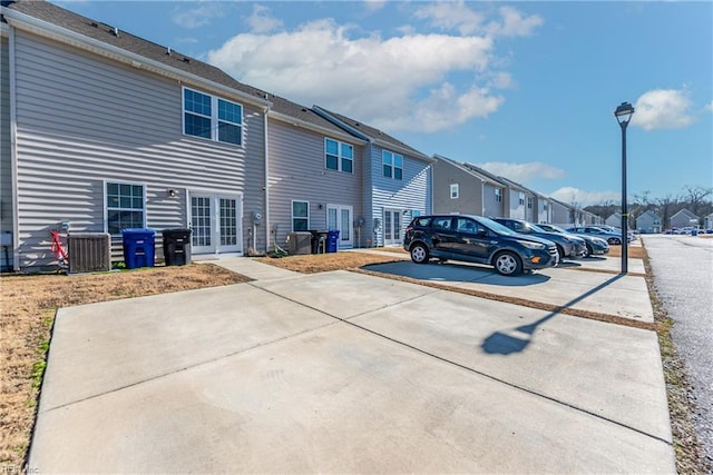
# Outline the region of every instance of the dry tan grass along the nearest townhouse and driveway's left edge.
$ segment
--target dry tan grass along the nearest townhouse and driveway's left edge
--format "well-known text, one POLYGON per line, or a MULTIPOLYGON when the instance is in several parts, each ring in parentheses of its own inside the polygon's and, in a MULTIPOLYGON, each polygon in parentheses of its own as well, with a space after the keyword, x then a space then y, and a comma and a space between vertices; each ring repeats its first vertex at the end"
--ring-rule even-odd
POLYGON ((25 463, 58 308, 247 280, 222 267, 197 264, 91 275, 0 277, 0 473, 19 473, 25 463))

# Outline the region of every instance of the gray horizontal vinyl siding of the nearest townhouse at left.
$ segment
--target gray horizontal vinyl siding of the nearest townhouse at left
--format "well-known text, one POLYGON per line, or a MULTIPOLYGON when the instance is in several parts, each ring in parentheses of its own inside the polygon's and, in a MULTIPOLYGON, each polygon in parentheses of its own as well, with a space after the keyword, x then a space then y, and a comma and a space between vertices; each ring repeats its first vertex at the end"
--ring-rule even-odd
POLYGON ((146 226, 157 230, 188 226, 186 189, 242 192, 247 243, 248 211, 263 208, 260 110, 243 105, 243 147, 184 136, 177 81, 22 31, 16 38, 21 267, 53 259, 49 230, 60 221, 104 231, 105 180, 144 184, 146 226))

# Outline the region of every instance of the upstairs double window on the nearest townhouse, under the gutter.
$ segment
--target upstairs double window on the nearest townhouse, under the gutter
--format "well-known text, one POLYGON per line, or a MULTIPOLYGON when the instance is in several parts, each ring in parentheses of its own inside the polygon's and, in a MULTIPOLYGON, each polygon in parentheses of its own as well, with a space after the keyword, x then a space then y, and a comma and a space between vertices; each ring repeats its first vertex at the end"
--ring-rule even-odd
POLYGON ((183 132, 225 144, 243 142, 243 106, 183 89, 183 132))

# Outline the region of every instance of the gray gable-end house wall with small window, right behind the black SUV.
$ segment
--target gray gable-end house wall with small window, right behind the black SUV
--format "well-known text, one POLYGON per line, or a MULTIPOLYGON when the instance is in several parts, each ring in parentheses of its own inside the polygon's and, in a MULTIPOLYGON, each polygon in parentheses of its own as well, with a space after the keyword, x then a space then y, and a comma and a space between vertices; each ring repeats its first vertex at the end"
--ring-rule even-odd
POLYGON ((502 217, 507 185, 473 166, 436 155, 433 212, 502 217))

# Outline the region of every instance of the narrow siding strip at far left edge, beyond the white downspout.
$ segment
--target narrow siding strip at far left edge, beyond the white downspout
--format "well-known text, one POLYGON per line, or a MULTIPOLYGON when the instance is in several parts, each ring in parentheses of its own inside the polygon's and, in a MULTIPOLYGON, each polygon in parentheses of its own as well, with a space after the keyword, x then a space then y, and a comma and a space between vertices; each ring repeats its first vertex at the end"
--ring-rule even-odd
MULTIPOLYGON (((12 232, 12 156, 10 146, 9 39, 0 37, 0 232, 12 232)), ((0 249, 0 269, 12 267, 12 249, 0 249)))

